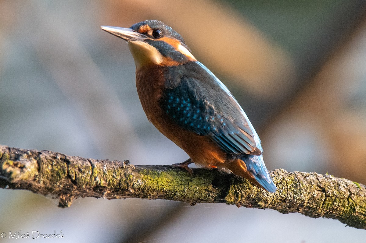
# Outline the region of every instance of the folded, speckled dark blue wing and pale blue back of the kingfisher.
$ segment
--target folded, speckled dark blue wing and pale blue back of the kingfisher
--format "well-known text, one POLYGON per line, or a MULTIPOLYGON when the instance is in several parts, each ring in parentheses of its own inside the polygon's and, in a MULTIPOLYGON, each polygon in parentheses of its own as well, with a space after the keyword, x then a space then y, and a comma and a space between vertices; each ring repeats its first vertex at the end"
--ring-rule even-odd
POLYGON ((261 155, 260 140, 238 102, 199 62, 167 67, 161 108, 182 128, 210 136, 227 153, 261 155))

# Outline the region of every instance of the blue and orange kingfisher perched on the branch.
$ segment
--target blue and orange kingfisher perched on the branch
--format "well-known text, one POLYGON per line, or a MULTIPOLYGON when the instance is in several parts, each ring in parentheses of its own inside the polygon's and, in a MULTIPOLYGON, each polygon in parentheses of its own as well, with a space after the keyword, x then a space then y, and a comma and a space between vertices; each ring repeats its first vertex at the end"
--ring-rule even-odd
POLYGON ((276 191, 261 140, 242 107, 176 31, 158 20, 101 29, 127 41, 147 119, 190 157, 178 166, 228 169, 276 191))

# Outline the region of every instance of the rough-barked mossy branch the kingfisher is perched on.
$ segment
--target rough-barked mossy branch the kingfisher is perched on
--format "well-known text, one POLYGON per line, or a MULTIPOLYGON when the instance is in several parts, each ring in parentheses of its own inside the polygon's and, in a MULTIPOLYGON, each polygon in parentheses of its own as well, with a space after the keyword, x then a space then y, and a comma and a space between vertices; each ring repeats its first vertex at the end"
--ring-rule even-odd
POLYGON ((190 176, 172 166, 138 166, 0 145, 0 187, 52 195, 60 199, 60 207, 70 206, 77 197, 159 198, 299 212, 366 229, 366 187, 362 184, 279 169, 271 172, 278 187, 272 194, 222 170, 193 171, 190 176))

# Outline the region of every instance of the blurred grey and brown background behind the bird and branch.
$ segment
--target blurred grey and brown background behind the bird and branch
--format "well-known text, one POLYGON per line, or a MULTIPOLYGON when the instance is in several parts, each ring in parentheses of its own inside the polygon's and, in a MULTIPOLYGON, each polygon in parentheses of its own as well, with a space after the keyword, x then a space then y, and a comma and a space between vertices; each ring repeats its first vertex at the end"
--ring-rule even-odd
MULTIPOLYGON (((127 44, 100 30, 158 19, 238 99, 269 170, 366 184, 365 7, 364 0, 0 0, 0 144, 132 164, 186 160, 147 121, 127 44)), ((336 220, 224 204, 57 204, 0 189, 0 233, 62 231, 67 242, 121 243, 366 238, 336 220)))

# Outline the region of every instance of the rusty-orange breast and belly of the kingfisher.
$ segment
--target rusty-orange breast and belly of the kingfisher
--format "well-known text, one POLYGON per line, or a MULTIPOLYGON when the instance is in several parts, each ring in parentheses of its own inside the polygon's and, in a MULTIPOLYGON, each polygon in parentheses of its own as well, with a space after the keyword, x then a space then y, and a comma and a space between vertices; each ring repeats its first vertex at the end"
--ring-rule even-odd
MULTIPOLYGON (((199 136, 176 125, 160 108, 164 90, 161 67, 144 67, 136 72, 136 87, 147 119, 166 137, 182 148, 200 166, 218 166, 225 162, 226 153, 206 136, 199 136)), ((220 166, 219 166, 220 167, 220 166)))

